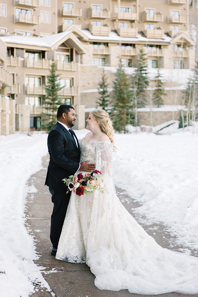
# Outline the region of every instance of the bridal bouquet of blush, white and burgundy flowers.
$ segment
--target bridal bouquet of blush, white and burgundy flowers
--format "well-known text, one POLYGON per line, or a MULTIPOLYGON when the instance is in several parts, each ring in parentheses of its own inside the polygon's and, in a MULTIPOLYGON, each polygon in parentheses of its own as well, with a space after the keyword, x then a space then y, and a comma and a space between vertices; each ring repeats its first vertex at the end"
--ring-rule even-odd
POLYGON ((94 190, 103 191, 103 179, 102 173, 98 170, 92 171, 92 173, 79 173, 78 175, 71 175, 68 179, 62 179, 64 184, 68 186, 68 191, 72 191, 78 196, 92 193, 94 190))

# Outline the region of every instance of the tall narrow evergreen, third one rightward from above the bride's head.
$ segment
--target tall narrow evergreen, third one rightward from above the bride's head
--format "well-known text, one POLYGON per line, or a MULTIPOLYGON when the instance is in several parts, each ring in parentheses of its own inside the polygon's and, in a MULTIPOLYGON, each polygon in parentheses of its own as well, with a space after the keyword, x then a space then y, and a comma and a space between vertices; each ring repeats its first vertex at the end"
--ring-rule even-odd
POLYGON ((137 100, 137 107, 144 107, 146 103, 145 88, 148 86, 148 72, 145 55, 143 48, 140 48, 140 53, 135 63, 135 71, 132 75, 132 87, 137 100))

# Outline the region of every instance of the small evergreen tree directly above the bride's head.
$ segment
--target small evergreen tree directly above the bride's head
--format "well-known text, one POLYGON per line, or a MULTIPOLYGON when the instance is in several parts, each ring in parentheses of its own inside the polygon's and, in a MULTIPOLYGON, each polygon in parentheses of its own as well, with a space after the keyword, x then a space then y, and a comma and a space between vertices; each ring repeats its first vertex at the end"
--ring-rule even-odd
POLYGON ((96 103, 98 103, 99 107, 104 109, 105 111, 107 111, 107 107, 110 104, 110 94, 108 94, 108 83, 107 83, 107 78, 106 75, 104 73, 104 69, 102 71, 102 77, 101 77, 101 81, 99 82, 99 89, 98 89, 98 93, 101 95, 99 98, 97 98, 99 101, 97 101, 96 103))

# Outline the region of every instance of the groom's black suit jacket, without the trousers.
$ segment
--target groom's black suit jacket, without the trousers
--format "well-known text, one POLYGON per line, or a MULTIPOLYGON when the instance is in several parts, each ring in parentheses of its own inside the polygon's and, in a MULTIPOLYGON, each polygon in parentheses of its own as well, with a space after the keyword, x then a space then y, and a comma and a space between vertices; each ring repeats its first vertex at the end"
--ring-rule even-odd
MULTIPOLYGON (((74 133, 75 134, 75 133, 74 133)), ((63 178, 73 175, 79 168, 80 149, 72 135, 57 123, 47 138, 50 162, 47 168, 45 185, 53 189, 66 190, 63 178)))

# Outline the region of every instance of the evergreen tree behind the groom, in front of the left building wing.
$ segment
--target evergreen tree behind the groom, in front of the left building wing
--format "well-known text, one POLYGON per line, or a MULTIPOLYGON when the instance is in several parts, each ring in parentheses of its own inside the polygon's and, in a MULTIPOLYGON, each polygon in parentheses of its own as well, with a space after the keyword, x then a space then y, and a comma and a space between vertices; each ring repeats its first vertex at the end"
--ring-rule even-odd
POLYGON ((43 121, 47 122, 41 127, 50 131, 51 128, 57 123, 56 115, 59 105, 62 104, 62 99, 59 98, 58 92, 62 89, 59 76, 56 74, 56 64, 53 61, 50 67, 50 74, 47 75, 47 85, 44 86, 46 95, 43 97, 43 103, 45 104, 45 110, 47 113, 42 113, 43 116, 47 116, 47 119, 43 121))

